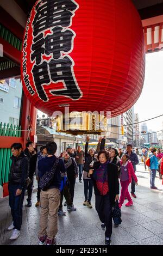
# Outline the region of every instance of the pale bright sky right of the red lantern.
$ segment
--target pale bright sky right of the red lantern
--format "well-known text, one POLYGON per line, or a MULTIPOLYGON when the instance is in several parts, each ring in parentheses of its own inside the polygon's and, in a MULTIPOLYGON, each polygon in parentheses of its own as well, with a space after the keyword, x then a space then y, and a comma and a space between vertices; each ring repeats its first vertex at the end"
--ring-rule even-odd
MULTIPOLYGON (((146 54, 146 73, 142 93, 134 105, 139 121, 163 114, 163 51, 146 54)), ((162 117, 147 121, 148 130, 163 130, 162 117)), ((141 124, 140 124, 141 128, 141 124)))

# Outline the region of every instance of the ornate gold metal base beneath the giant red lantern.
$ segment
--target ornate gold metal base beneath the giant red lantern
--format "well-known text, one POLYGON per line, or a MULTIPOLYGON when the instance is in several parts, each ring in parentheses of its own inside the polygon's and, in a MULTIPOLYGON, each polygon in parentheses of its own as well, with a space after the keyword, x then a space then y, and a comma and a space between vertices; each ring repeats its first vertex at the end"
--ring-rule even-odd
POLYGON ((101 135, 107 130, 107 119, 104 115, 87 112, 71 112, 68 115, 55 117, 56 131, 71 135, 96 134, 101 135))

